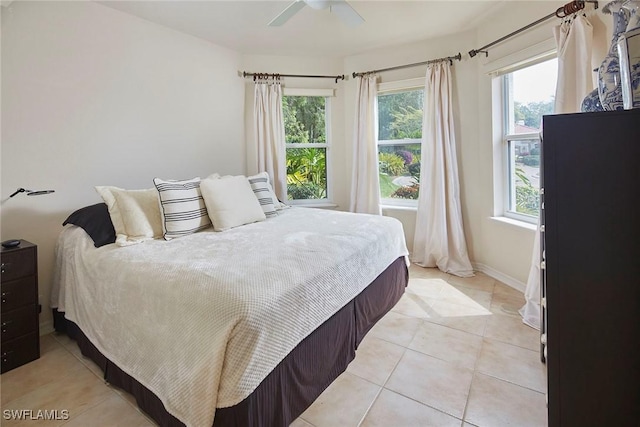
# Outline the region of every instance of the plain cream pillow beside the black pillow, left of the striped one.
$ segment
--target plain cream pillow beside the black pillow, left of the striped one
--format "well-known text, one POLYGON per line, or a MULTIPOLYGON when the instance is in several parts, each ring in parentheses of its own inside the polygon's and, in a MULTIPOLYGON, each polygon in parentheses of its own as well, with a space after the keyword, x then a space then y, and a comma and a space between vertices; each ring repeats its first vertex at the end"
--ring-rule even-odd
POLYGON ((154 188, 124 190, 98 186, 95 189, 109 209, 116 245, 128 246, 162 237, 158 194, 154 188))

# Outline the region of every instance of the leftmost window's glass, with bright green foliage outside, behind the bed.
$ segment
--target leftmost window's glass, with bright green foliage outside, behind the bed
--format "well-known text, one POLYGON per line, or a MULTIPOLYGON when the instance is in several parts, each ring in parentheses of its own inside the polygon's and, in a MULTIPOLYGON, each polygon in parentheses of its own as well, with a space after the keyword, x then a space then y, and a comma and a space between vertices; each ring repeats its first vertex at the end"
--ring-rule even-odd
POLYGON ((293 204, 327 201, 330 98, 289 93, 294 94, 285 90, 282 100, 288 199, 293 204))

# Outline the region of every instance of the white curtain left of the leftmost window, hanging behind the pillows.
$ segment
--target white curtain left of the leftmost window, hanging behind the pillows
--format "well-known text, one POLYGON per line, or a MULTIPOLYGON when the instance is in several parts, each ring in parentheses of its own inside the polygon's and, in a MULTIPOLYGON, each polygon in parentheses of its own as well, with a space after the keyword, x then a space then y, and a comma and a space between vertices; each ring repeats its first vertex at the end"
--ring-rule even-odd
POLYGON ((287 200, 282 86, 279 81, 256 81, 253 122, 258 148, 258 171, 267 172, 273 180, 276 196, 280 200, 287 200))

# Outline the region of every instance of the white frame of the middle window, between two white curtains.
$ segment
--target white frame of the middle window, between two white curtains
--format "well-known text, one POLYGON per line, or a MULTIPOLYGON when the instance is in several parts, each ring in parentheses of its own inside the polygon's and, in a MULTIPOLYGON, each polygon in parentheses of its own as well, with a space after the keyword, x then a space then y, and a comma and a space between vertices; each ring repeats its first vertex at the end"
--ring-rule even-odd
MULTIPOLYGON (((399 80, 393 82, 385 82, 379 83, 377 86, 377 94, 376 94, 376 112, 378 109, 378 97, 380 95, 391 95, 394 93, 401 92, 411 92, 415 90, 425 90, 425 80, 424 78, 415 78, 408 80, 399 80)), ((424 120, 424 106, 423 106, 423 120, 424 120)), ((378 155, 380 155, 380 146, 385 145, 408 145, 408 144, 422 144, 422 138, 404 138, 404 139, 379 139, 378 135, 378 121, 379 115, 376 114, 376 151, 378 155)), ((422 161, 422 151, 421 151, 421 160, 422 161)), ((379 175, 379 173, 378 173, 379 175)), ((422 178, 422 177, 421 177, 422 178)), ((380 178, 378 178, 378 181, 380 178)), ((379 185, 379 183, 378 183, 379 185)), ((382 207, 399 207, 399 208, 418 208, 418 200, 413 199, 395 199, 391 197, 383 198, 380 196, 380 205, 382 207)))

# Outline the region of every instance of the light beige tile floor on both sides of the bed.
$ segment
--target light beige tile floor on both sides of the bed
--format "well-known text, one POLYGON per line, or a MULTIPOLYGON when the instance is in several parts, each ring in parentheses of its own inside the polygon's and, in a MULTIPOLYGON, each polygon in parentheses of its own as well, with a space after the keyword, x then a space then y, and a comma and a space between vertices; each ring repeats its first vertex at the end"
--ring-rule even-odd
MULTIPOLYGON (((484 274, 412 265, 400 302, 291 427, 546 426, 539 333, 515 312, 523 304, 522 293, 484 274)), ((46 335, 41 352, 0 377, 3 426, 154 425, 74 341, 46 335), (4 419, 10 409, 66 409, 69 419, 4 419)))

